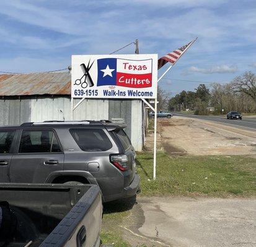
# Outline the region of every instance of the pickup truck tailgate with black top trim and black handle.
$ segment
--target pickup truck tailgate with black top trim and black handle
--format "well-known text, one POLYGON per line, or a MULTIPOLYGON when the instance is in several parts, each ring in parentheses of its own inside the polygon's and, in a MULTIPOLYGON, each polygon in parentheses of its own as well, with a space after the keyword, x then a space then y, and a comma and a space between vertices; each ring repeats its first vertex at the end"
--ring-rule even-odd
POLYGON ((40 247, 99 246, 101 218, 100 190, 92 186, 40 247))

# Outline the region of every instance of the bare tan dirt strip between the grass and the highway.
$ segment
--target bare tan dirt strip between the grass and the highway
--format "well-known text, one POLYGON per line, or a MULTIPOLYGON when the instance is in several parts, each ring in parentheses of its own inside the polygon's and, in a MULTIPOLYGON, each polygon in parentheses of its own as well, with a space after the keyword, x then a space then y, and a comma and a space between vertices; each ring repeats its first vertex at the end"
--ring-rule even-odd
MULTIPOLYGON (((256 155, 256 133, 205 120, 157 119, 157 149, 170 155, 256 155)), ((151 150, 153 133, 146 137, 151 150)))

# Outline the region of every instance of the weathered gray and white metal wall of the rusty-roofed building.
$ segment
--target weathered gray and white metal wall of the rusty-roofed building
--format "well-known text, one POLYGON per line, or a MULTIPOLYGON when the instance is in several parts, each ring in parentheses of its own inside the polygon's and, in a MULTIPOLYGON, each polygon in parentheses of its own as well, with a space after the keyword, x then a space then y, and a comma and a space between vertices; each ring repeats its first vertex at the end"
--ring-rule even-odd
MULTIPOLYGON (((74 105, 79 99, 74 99, 74 105)), ((143 148, 143 112, 140 100, 85 99, 75 110, 74 120, 117 120, 125 129, 136 151, 143 148)), ((0 99, 0 125, 24 122, 71 120, 71 99, 67 96, 26 96, 0 99)))

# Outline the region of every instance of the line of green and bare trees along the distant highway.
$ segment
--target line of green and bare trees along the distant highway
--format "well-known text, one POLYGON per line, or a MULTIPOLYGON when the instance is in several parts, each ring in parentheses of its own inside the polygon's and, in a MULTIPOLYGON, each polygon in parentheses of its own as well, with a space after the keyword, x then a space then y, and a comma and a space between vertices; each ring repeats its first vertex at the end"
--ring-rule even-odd
MULTIPOLYGON (((160 99, 166 100, 166 94, 160 92, 160 99)), ((160 103, 160 102, 159 102, 160 103)), ((212 83, 208 88, 200 84, 195 91, 183 90, 161 106, 169 111, 195 111, 198 115, 225 114, 229 111, 256 113, 256 76, 252 72, 234 78, 230 83, 212 83)))

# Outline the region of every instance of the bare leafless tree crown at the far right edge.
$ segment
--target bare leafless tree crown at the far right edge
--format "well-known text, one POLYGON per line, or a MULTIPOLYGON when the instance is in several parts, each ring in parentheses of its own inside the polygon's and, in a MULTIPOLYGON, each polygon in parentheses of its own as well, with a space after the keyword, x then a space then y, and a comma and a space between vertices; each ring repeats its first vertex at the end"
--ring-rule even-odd
POLYGON ((256 101, 256 76, 254 73, 249 71, 234 78, 232 87, 235 93, 245 93, 256 101))

